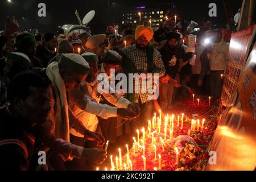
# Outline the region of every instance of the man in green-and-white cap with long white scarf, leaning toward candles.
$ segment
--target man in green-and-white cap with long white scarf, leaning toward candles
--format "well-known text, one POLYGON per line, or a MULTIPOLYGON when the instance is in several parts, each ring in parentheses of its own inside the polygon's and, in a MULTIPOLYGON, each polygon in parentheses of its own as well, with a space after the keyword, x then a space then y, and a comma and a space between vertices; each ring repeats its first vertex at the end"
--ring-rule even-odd
MULTIPOLYGON (((104 150, 88 149, 69 143, 70 127, 84 135, 86 140, 97 142, 97 146, 103 146, 105 143, 102 135, 87 130, 68 107, 68 92, 80 87, 89 70, 89 64, 84 58, 74 53, 61 55, 59 63, 53 62, 46 68, 46 76, 51 80, 55 93, 55 107, 50 121, 40 125, 38 131, 43 143, 60 154, 64 161, 82 158, 89 162, 102 163, 106 159, 104 150)), ((55 161, 52 165, 61 163, 61 160, 56 161, 57 155, 53 160, 55 161)))

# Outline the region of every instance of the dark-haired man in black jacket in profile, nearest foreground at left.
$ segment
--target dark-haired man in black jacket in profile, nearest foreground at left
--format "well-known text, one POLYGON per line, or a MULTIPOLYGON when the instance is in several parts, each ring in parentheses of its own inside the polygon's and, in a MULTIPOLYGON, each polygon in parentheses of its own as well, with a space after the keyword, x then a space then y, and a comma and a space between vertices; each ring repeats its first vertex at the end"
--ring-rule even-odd
POLYGON ((31 169, 35 125, 47 121, 54 105, 51 82, 28 71, 19 73, 10 85, 11 105, 0 110, 0 169, 31 169))

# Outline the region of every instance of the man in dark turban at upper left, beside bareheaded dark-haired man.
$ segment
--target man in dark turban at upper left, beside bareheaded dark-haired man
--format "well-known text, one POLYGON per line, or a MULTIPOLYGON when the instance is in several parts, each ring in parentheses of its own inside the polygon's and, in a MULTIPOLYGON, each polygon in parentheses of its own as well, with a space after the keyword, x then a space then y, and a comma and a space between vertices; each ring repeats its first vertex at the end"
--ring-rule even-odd
POLYGON ((36 40, 31 34, 20 34, 16 37, 15 52, 22 52, 27 55, 32 63, 33 67, 43 68, 43 63, 38 57, 35 56, 36 52, 36 40))

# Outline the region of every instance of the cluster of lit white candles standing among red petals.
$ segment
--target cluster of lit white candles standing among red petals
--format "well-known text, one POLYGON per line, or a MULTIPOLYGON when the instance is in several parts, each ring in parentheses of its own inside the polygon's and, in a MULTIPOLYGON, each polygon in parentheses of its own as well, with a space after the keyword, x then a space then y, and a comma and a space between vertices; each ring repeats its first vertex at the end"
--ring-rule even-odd
MULTIPOLYGON (((179 127, 180 129, 183 129, 183 122, 184 122, 184 113, 177 116, 176 118, 176 126, 179 127), (181 121, 181 122, 180 122, 181 121)), ((174 134, 174 123, 175 123, 175 115, 172 114, 169 116, 168 114, 164 117, 164 139, 162 137, 159 137, 160 143, 159 147, 162 148, 162 151, 164 151, 164 147, 166 147, 165 140, 167 140, 167 127, 169 125, 169 131, 170 131, 170 139, 173 138, 174 134)), ((195 119, 192 119, 191 121, 191 130, 188 131, 188 135, 190 135, 191 131, 203 131, 204 129, 204 123, 205 119, 200 123, 200 120, 197 119, 197 122, 195 119)), ((161 133, 161 126, 162 126, 162 112, 159 110, 159 117, 156 118, 156 113, 154 114, 154 117, 152 118, 152 122, 148 121, 148 137, 151 138, 151 147, 154 148, 154 159, 155 161, 158 160, 158 168, 155 167, 154 170, 161 170, 162 169, 162 156, 160 154, 157 154, 156 151, 158 149, 156 139, 155 139, 155 134, 160 134, 161 133)), ((146 132, 144 128, 142 128, 141 132, 137 130, 137 139, 134 137, 134 143, 133 143, 133 155, 136 155, 137 151, 142 152, 142 160, 143 160, 143 171, 146 171, 147 169, 147 164, 146 164, 146 132), (142 139, 140 140, 140 134, 142 133, 142 139)), ((108 149, 108 144, 109 142, 106 142, 105 146, 105 151, 108 149)), ((118 148, 119 152, 119 158, 118 156, 115 157, 115 163, 113 160, 113 156, 110 156, 110 163, 111 163, 111 171, 118 171, 118 170, 125 170, 125 171, 133 171, 133 163, 130 160, 130 151, 129 151, 129 146, 126 144, 126 162, 122 162, 122 151, 121 148, 118 148)), ((175 153, 176 153, 176 164, 179 164, 179 150, 178 148, 175 148, 175 153)), ((97 168, 98 169, 98 168, 97 168)), ((107 168, 105 168, 106 171, 108 171, 107 168)))

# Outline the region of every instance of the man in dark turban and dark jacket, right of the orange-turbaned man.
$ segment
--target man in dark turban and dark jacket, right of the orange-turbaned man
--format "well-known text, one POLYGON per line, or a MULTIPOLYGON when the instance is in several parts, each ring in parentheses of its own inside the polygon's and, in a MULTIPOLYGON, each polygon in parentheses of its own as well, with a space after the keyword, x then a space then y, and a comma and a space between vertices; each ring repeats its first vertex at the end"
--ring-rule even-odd
MULTIPOLYGON (((179 77, 181 68, 188 63, 188 61, 185 63, 183 62, 183 49, 178 45, 179 38, 180 34, 177 34, 176 32, 169 32, 167 34, 166 45, 159 50, 168 76, 175 80, 177 79, 177 82, 180 81, 179 77)), ((167 101, 166 104, 170 107, 172 104, 172 96, 174 94, 174 84, 171 82, 169 82, 168 85, 162 84, 162 92, 168 93, 163 94, 163 96, 167 96, 167 98, 163 98, 163 100, 167 101)))

